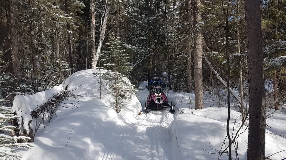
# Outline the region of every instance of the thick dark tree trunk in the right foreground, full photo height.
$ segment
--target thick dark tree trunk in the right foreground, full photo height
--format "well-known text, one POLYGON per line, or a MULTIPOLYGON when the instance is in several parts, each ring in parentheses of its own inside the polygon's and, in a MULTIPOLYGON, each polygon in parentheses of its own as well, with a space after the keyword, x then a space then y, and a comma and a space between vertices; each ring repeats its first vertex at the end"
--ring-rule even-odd
POLYGON ((245 0, 248 43, 249 127, 248 160, 265 159, 265 97, 261 11, 259 0, 245 0))

